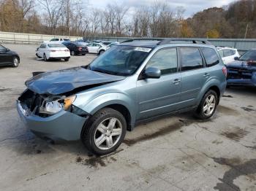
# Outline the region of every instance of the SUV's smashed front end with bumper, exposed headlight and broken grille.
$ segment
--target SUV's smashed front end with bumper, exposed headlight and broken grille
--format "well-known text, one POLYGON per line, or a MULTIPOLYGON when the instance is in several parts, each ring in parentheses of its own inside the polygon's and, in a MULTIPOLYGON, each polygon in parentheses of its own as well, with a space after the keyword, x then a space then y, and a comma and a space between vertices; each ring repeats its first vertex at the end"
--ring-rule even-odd
POLYGON ((17 101, 23 122, 35 134, 48 139, 75 141, 89 114, 73 106, 75 95, 38 94, 27 89, 17 101))

